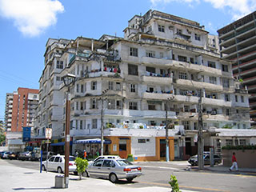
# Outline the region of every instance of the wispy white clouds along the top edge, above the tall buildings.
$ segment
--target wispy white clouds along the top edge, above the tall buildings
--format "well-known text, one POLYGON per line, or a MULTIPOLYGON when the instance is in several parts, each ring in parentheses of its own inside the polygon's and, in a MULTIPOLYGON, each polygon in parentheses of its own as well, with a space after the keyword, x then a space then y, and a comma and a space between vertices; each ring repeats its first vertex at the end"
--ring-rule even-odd
POLYGON ((256 0, 150 0, 152 6, 158 6, 162 3, 170 2, 186 2, 188 6, 193 2, 209 2, 215 9, 226 10, 232 15, 233 19, 242 18, 246 14, 250 14, 256 8, 256 0))

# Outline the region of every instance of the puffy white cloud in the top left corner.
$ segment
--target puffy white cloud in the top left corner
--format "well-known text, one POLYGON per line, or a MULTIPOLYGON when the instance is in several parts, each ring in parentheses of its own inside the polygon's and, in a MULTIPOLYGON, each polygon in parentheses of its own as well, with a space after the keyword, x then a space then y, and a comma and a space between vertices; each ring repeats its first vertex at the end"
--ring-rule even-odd
POLYGON ((22 34, 37 36, 57 22, 64 6, 58 0, 0 0, 0 14, 14 19, 22 34))

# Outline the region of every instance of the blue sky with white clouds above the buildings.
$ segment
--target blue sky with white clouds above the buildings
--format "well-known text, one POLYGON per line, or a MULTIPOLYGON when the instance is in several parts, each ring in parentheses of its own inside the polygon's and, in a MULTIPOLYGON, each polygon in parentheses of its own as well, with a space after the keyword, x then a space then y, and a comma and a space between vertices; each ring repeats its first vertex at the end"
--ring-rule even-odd
POLYGON ((0 0, 0 120, 6 93, 39 89, 48 38, 123 37, 130 18, 150 9, 199 22, 217 34, 255 8, 256 0, 0 0))

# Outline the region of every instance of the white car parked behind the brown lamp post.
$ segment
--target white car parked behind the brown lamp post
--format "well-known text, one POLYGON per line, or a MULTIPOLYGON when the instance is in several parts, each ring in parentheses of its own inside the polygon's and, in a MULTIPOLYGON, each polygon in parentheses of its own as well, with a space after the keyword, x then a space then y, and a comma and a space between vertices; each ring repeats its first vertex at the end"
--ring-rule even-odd
MULTIPOLYGON (((74 162, 75 158, 70 156, 69 162, 69 171, 74 172, 77 174, 77 166, 74 162)), ((65 170, 65 155, 54 155, 50 157, 47 161, 42 162, 42 170, 53 170, 57 171, 58 173, 63 173, 65 170)))

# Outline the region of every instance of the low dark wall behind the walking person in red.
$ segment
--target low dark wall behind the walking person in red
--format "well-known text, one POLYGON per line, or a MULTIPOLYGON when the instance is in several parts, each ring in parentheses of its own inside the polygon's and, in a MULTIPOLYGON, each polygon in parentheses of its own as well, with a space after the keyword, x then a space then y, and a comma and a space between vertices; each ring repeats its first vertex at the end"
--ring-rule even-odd
POLYGON ((232 154, 236 154, 238 169, 241 168, 256 168, 256 150, 222 150, 223 166, 231 166, 232 154))

